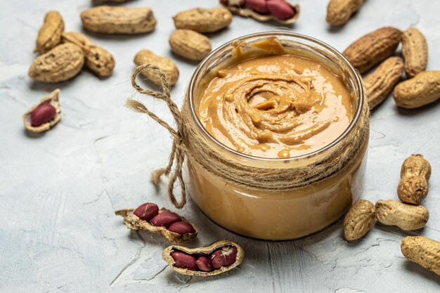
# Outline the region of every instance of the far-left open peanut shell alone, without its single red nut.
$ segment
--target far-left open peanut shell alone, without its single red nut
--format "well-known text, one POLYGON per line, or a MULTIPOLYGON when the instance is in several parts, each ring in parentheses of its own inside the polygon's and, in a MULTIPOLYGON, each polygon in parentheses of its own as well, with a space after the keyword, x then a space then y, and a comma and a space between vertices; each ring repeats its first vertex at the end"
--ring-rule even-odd
POLYGON ((48 94, 48 96, 45 96, 44 98, 41 98, 40 103, 37 105, 32 106, 29 110, 23 114, 23 124, 25 124, 25 128, 27 131, 39 133, 43 131, 48 131, 51 129, 55 124, 57 124, 61 119, 61 104, 59 100, 59 94, 60 89, 56 89, 55 91, 48 94), (53 119, 49 122, 43 123, 40 126, 32 126, 31 125, 31 119, 30 119, 30 113, 35 110, 41 103, 49 103, 53 105, 53 107, 56 109, 56 115, 53 117, 53 119))

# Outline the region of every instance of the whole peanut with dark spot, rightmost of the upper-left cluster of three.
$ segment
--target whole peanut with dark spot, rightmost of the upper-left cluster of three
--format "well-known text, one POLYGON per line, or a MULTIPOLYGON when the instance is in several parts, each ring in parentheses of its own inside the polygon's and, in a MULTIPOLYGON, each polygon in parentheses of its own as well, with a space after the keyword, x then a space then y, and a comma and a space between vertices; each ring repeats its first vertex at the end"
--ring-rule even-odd
POLYGON ((115 68, 115 59, 105 48, 93 44, 84 34, 79 32, 63 32, 63 41, 80 48, 86 58, 86 65, 100 77, 109 77, 115 68))

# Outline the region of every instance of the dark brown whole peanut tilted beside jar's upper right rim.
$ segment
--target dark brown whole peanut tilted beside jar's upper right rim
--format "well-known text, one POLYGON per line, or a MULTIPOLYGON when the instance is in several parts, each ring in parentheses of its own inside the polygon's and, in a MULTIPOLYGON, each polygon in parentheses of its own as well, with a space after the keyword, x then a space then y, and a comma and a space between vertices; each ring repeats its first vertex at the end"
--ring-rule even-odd
POLYGON ((382 27, 365 34, 354 41, 344 51, 344 56, 359 72, 364 73, 371 67, 392 56, 402 39, 402 32, 394 27, 382 27))

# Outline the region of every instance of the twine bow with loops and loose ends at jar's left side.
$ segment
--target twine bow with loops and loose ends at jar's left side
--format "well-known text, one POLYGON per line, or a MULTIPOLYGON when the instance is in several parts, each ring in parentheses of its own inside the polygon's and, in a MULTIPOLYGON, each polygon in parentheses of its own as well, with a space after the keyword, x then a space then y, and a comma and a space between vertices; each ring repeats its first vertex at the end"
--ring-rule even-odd
POLYGON ((153 174, 151 174, 151 179, 157 187, 160 183, 160 176, 162 176, 163 174, 169 175, 171 173, 168 183, 168 197, 169 200, 171 200, 172 203, 174 204, 174 207, 181 209, 186 204, 185 183, 183 183, 183 178, 182 178, 182 167, 183 167, 183 160, 185 159, 186 148, 183 143, 183 119, 182 119, 181 111, 177 107, 176 103, 174 103, 173 100, 171 99, 171 85, 169 82, 169 78, 165 76, 164 72, 162 72, 162 70, 160 70, 159 67, 157 67, 156 65, 141 64, 141 65, 137 65, 133 73, 131 74, 131 85, 139 93, 143 93, 144 95, 152 96, 153 98, 164 100, 165 103, 167 103, 169 111, 173 115, 174 120, 176 121, 176 129, 174 129, 163 119, 157 117, 155 113, 148 110, 148 108, 143 103, 139 102, 138 100, 133 100, 131 98, 127 99, 128 108, 131 108, 131 110, 134 110, 139 113, 145 113, 151 118, 155 119, 155 121, 160 125, 162 125, 165 129, 167 129, 173 137, 173 145, 172 145, 171 154, 169 155, 169 161, 167 167, 153 171, 153 174), (160 79, 160 84, 161 84, 160 87, 162 89, 162 92, 153 91, 151 89, 143 89, 141 86, 139 86, 136 83, 136 77, 138 76, 138 74, 143 72, 143 70, 150 70, 155 72, 155 74, 157 74, 157 76, 160 79), (174 166, 174 171, 172 172, 173 166, 174 166), (176 183, 177 179, 179 179, 181 185, 180 202, 178 202, 176 200, 176 197, 174 196, 174 184, 176 183))

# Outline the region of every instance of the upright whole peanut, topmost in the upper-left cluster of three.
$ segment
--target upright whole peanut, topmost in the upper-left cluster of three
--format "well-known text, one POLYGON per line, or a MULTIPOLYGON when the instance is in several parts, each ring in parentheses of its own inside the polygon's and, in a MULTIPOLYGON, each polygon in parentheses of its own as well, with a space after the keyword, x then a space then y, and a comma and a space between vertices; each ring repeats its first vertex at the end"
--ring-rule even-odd
POLYGON ((34 52, 46 53, 61 42, 64 21, 58 11, 49 11, 44 17, 44 24, 38 32, 34 52))

